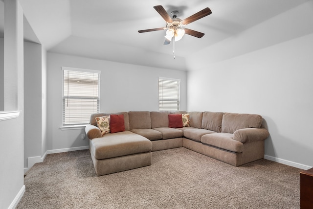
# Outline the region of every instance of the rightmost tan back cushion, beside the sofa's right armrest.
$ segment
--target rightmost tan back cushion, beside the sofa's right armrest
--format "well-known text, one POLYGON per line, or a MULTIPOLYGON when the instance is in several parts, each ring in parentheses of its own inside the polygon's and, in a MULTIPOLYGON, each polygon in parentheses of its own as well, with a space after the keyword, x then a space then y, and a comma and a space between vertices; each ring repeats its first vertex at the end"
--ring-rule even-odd
POLYGON ((233 134, 238 129, 260 128, 263 118, 256 114, 224 113, 222 132, 233 134))

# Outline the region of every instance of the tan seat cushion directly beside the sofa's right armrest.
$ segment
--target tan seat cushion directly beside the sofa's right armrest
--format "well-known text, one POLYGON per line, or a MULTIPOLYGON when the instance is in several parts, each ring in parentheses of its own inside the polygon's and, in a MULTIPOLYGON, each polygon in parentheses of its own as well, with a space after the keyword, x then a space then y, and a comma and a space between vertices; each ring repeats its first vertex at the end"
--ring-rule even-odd
POLYGON ((244 149, 244 144, 234 140, 233 134, 229 133, 214 133, 206 134, 201 137, 203 144, 208 144, 231 152, 241 153, 244 149))

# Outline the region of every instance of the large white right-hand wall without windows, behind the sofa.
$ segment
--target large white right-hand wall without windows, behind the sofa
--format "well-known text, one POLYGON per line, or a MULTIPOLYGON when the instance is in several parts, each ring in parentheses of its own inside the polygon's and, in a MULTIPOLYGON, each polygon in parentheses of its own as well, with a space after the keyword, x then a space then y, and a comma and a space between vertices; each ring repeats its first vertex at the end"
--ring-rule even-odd
MULTIPOLYGON (((265 155, 268 159, 296 167, 313 166, 313 1, 308 1, 297 8, 256 25, 240 34, 240 38, 225 40, 231 43, 223 58, 211 63, 198 63, 196 70, 188 73, 188 111, 220 111, 234 113, 260 114, 270 136, 265 141, 265 155), (293 21, 284 18, 292 15, 293 21), (285 23, 288 21, 288 24, 285 23), (284 36, 286 27, 298 28, 298 35, 276 40, 276 44, 259 45, 249 48, 254 39, 268 42, 273 40, 266 35, 274 28, 284 36), (282 27, 285 25, 285 27, 282 27), (311 31, 307 30, 310 27, 311 31), (296 36, 296 38, 295 38, 296 36), (237 50, 237 51, 236 51, 237 50), (229 56, 232 54, 232 56, 229 56)), ((276 36, 273 37, 276 39, 276 36)), ((266 43, 268 43, 266 42, 266 43)), ((227 45, 229 46, 229 45, 227 45)), ((217 47, 217 46, 216 46, 217 47)), ((202 51, 210 54, 211 48, 202 51)), ((204 53, 204 54, 203 54, 204 53)), ((197 54, 191 58, 196 61, 197 54)), ((189 60, 189 61, 191 61, 189 60)), ((208 58, 210 60, 210 58, 208 58)))

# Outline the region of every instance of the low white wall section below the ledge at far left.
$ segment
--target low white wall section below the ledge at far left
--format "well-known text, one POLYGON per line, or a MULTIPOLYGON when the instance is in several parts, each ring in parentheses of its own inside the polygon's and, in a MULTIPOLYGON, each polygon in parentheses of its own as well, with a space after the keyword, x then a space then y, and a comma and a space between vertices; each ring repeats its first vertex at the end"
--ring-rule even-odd
POLYGON ((0 121, 0 208, 17 204, 23 186, 23 114, 0 121))

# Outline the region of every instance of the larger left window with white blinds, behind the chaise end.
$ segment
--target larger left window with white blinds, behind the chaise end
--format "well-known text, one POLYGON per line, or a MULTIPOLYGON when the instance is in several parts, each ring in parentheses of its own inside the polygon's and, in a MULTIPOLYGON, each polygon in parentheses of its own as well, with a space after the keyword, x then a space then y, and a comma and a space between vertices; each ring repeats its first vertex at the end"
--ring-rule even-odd
POLYGON ((100 71, 62 67, 62 125, 89 123, 92 113, 100 107, 100 71))

